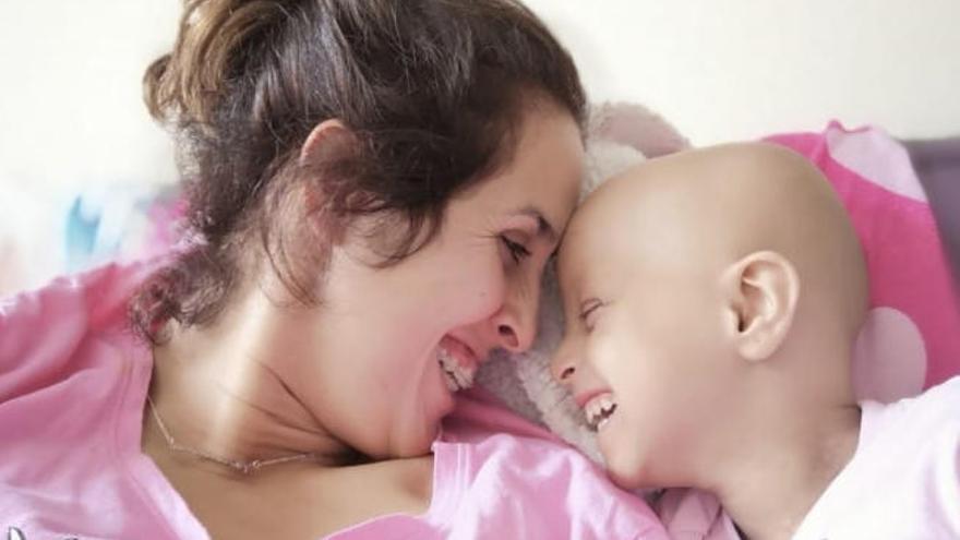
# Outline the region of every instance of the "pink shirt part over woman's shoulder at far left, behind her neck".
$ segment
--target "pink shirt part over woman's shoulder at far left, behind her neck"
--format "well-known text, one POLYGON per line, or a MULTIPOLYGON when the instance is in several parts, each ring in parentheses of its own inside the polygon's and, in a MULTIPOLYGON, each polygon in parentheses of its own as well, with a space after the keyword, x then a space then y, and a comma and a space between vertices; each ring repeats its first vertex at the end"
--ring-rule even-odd
POLYGON ((192 539, 203 527, 140 452, 149 355, 120 324, 148 265, 0 304, 0 528, 27 540, 192 539))

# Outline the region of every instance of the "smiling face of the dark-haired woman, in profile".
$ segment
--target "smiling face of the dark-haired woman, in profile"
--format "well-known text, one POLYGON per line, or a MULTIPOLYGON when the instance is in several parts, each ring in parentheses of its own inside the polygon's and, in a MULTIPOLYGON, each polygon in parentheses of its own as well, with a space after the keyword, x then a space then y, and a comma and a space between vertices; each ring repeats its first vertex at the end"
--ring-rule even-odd
POLYGON ((319 361, 289 377, 324 429, 371 457, 422 455, 489 352, 530 346, 583 154, 569 115, 531 107, 513 161, 453 199, 423 249, 383 269, 349 241, 334 251, 302 328, 319 361))

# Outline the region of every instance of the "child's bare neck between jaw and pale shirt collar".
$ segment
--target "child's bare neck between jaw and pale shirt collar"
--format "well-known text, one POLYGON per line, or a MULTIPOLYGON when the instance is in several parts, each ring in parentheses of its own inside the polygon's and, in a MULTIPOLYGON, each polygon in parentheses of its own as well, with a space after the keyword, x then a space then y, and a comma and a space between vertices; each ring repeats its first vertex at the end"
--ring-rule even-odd
POLYGON ((730 452, 720 463, 715 457, 713 472, 706 472, 749 539, 790 538, 856 451, 861 415, 852 399, 801 408, 773 405, 748 423, 736 422, 740 435, 755 435, 731 440, 730 452))

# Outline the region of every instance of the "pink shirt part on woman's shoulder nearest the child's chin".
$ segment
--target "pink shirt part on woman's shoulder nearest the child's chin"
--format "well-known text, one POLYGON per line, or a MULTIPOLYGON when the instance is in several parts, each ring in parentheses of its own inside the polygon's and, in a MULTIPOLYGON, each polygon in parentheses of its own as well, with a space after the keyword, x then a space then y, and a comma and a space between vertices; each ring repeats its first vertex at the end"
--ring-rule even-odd
POLYGON ((669 538, 641 499, 482 391, 458 400, 441 439, 425 515, 374 519, 331 540, 669 538))

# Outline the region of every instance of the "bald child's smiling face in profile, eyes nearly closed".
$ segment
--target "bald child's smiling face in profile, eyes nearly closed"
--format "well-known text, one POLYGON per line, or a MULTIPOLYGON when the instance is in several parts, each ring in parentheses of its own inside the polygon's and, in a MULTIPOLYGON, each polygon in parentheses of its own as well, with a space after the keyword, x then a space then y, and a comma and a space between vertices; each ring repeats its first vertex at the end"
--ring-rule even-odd
POLYGON ((656 209, 656 195, 638 205, 646 194, 631 181, 603 185, 567 229, 559 257, 566 328, 552 368, 597 428, 611 477, 629 489, 668 487, 659 479, 679 473, 668 468, 704 427, 722 422, 731 375, 718 360, 708 255, 686 241, 697 224, 656 209))

